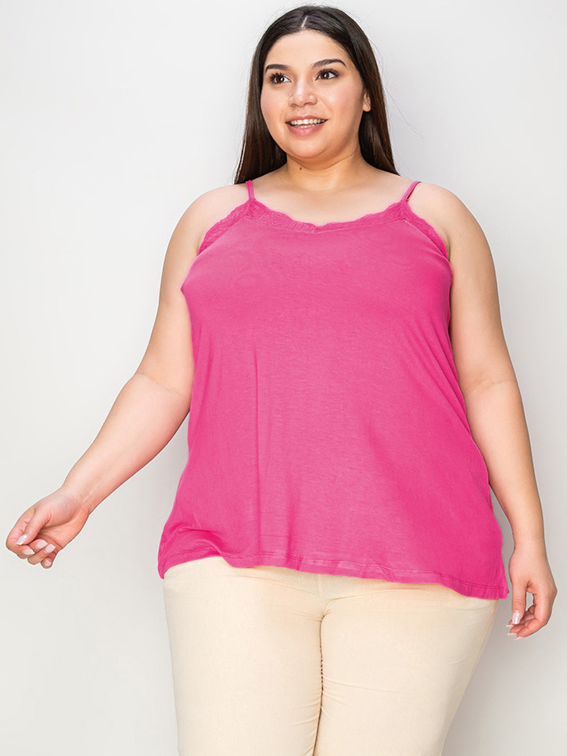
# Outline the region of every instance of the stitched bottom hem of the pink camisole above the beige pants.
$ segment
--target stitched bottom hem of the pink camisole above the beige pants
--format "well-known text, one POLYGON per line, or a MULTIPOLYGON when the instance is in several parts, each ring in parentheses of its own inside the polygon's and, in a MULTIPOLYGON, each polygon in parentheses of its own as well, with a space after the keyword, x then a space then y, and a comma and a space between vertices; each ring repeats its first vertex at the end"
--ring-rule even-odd
POLYGON ((460 580, 454 575, 435 570, 415 569, 392 569, 385 565, 374 563, 364 564, 350 562, 345 559, 305 559, 303 556, 290 556, 288 554, 260 551, 256 554, 226 554, 215 549, 184 549, 178 551, 158 565, 160 578, 164 578, 170 567, 181 562, 194 559, 205 559, 207 556, 222 556, 233 567, 254 567, 265 565, 273 567, 287 567, 299 572, 323 572, 327 575, 352 575, 358 578, 379 578, 393 583, 437 583, 461 593, 463 596, 472 596, 479 599, 506 599, 510 592, 508 586, 483 585, 460 580), (187 558, 189 556, 189 558, 187 558))

